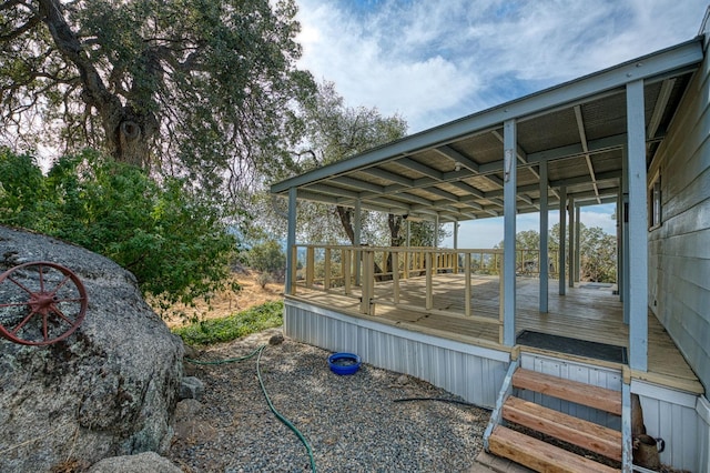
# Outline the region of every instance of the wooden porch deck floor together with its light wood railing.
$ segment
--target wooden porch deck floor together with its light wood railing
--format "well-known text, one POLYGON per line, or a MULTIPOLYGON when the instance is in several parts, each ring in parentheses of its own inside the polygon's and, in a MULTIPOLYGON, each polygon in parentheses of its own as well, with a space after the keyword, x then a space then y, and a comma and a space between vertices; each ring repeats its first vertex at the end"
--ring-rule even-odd
MULTIPOLYGON (((434 250, 400 248, 362 248, 306 245, 305 264, 294 274, 295 284, 287 299, 321 308, 335 309, 363 320, 397 326, 407 331, 434 335, 470 345, 511 352, 524 346, 527 351, 547 352, 526 345, 513 346, 504 342, 503 306, 505 281, 497 268, 503 265, 499 250, 434 250), (335 263, 318 261, 327 253, 352 254, 352 271, 333 271, 335 263), (357 258, 355 255, 358 255, 357 258), (356 259, 369 261, 395 255, 399 271, 375 274, 361 268, 356 276, 356 259), (488 265, 486 265, 488 262, 488 265), (427 265, 428 263, 428 265, 427 265), (459 264, 460 263, 460 264, 459 264), (329 278, 311 269, 329 266, 329 278), (429 271, 427 271, 427 266, 429 271), (406 268, 406 270, 405 270, 406 268), (387 279, 375 281, 376 279, 387 279), (349 280, 346 283, 345 279, 349 280), (359 283, 356 284, 356 281, 359 283), (363 302, 365 301, 365 302, 363 302)), ((520 258, 519 258, 520 259, 520 258)), ((336 259, 339 261, 339 259, 336 259)), ((539 274, 518 265, 516 276, 516 332, 554 334, 606 345, 629 348, 629 326, 623 322, 623 304, 616 284, 575 283, 565 295, 549 291, 548 311, 540 312, 539 274)), ((557 288, 557 280, 551 280, 557 288)), ((652 312, 648 311, 647 371, 631 370, 632 378, 688 393, 703 393, 702 384, 690 369, 668 332, 652 312)), ((560 353, 556 353, 560 355, 560 353)), ((610 362, 568 350, 569 360, 602 366, 623 368, 626 362, 610 362)))

